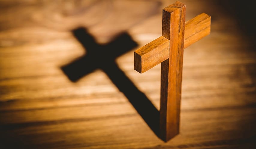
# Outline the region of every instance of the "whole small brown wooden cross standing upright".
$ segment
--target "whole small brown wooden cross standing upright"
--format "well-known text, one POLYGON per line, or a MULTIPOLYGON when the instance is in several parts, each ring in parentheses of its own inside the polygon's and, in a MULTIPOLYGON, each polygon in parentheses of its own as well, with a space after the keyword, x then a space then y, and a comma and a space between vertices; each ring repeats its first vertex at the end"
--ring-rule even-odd
POLYGON ((161 63, 160 137, 179 134, 183 49, 210 34, 211 17, 202 13, 185 23, 186 5, 163 9, 162 36, 134 52, 134 69, 146 72, 161 63))

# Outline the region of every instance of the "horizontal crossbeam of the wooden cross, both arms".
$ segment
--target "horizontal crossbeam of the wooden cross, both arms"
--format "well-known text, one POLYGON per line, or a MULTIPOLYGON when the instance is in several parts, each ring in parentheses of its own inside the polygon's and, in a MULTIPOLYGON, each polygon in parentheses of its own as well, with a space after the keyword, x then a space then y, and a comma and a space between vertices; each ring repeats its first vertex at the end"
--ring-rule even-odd
MULTIPOLYGON (((168 22, 167 22, 168 23, 168 22)), ((184 48, 210 34, 211 16, 197 15, 185 24, 184 48)), ((168 27, 166 27, 168 31, 168 27)), ((134 52, 134 69, 143 73, 169 58, 169 40, 163 36, 151 41, 134 52)))

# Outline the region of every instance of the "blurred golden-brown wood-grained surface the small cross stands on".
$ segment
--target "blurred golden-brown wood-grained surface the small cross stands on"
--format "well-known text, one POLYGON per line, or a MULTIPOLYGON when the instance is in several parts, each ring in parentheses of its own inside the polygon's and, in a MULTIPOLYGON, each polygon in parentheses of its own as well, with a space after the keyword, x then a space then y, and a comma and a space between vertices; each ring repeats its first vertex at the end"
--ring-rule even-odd
POLYGON ((139 74, 133 53, 173 2, 1 1, 0 148, 256 148, 255 44, 225 1, 181 1, 212 27, 184 50, 180 134, 165 143, 144 121, 149 101, 159 110, 160 65, 139 74))

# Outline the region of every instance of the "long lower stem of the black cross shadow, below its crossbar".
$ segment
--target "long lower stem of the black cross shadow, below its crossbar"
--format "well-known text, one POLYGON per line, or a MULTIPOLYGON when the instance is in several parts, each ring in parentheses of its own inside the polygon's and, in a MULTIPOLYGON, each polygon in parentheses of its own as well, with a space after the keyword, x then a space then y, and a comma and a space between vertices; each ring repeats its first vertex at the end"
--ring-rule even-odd
POLYGON ((124 93, 138 114, 144 119, 150 129, 159 137, 159 111, 147 98, 147 96, 138 90, 132 81, 124 74, 115 62, 109 64, 111 67, 104 67, 108 77, 115 86, 124 93))

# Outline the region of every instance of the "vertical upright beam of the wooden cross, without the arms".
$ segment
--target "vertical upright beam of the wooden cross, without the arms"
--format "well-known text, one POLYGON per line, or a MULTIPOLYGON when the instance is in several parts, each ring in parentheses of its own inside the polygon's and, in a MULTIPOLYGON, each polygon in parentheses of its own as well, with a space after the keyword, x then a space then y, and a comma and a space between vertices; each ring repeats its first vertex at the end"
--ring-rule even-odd
POLYGON ((163 9, 162 36, 170 39, 169 58, 161 64, 160 137, 166 142, 180 131, 185 15, 179 1, 163 9))

